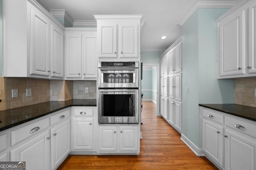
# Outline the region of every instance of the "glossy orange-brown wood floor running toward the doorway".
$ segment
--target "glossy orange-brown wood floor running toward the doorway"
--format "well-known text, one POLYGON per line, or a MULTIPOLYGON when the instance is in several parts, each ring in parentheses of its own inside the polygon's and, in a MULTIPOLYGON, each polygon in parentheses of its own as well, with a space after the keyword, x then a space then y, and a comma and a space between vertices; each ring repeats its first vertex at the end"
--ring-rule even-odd
POLYGON ((70 155, 58 170, 218 170, 207 158, 198 157, 162 117, 156 105, 143 102, 139 155, 70 155))

